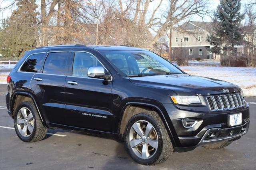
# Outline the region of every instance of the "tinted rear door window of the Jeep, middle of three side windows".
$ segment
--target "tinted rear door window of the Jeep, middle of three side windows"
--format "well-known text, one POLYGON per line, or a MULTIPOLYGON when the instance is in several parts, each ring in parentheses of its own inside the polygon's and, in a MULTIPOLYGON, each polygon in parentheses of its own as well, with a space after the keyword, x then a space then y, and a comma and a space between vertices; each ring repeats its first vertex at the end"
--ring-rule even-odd
POLYGON ((45 62, 43 73, 67 75, 67 59, 69 52, 49 53, 45 62))

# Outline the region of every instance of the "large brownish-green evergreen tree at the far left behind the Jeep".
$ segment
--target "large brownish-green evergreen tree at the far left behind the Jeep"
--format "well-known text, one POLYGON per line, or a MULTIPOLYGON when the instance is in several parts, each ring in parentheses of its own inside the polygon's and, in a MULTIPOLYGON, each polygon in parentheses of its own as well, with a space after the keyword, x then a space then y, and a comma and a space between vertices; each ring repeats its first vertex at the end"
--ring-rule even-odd
POLYGON ((10 49, 5 57, 21 57, 27 50, 36 47, 38 36, 36 16, 36 0, 17 0, 18 8, 12 12, 0 34, 0 53, 10 49))

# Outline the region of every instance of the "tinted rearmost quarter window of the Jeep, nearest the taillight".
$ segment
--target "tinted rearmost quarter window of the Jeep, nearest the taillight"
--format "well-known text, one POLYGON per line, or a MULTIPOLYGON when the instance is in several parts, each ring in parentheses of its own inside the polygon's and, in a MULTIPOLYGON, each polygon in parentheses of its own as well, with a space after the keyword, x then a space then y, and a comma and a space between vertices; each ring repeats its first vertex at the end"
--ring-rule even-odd
POLYGON ((20 71, 38 73, 42 69, 45 53, 33 54, 24 62, 20 71))

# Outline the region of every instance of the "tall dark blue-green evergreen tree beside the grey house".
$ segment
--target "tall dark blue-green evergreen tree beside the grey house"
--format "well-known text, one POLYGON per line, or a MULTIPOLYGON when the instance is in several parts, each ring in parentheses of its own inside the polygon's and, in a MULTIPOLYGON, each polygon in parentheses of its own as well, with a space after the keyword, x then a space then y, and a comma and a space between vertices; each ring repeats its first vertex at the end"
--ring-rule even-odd
POLYGON ((214 27, 208 36, 208 42, 214 46, 212 53, 220 54, 221 49, 232 53, 234 45, 242 42, 241 20, 244 15, 240 9, 241 0, 220 0, 214 13, 214 27))

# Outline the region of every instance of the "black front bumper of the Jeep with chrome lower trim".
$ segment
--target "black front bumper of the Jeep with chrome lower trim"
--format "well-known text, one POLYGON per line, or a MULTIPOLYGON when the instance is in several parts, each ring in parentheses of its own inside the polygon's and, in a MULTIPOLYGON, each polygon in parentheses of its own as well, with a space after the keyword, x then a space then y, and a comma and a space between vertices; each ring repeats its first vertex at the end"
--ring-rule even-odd
POLYGON ((164 107, 170 117, 168 124, 175 148, 191 148, 222 140, 236 140, 246 134, 250 124, 248 104, 240 109, 219 112, 188 111, 172 104, 164 104, 164 107), (242 113, 242 125, 229 127, 228 115, 234 113, 242 113), (197 124, 194 127, 185 128, 182 121, 186 119, 196 120, 197 124), (215 132, 215 136, 208 138, 209 132, 215 132))

